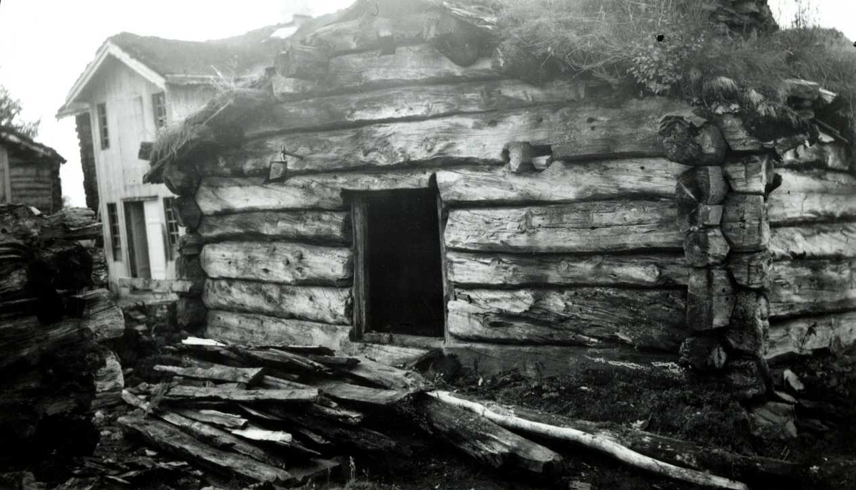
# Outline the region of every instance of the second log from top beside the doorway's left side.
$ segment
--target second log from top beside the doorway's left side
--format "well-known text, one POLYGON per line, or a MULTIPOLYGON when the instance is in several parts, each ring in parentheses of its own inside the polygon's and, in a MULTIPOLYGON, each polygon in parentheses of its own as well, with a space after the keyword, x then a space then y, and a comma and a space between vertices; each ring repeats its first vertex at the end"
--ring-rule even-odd
POLYGON ((256 211, 208 215, 199 234, 207 242, 223 239, 286 239, 308 243, 348 245, 350 219, 343 211, 256 211))

